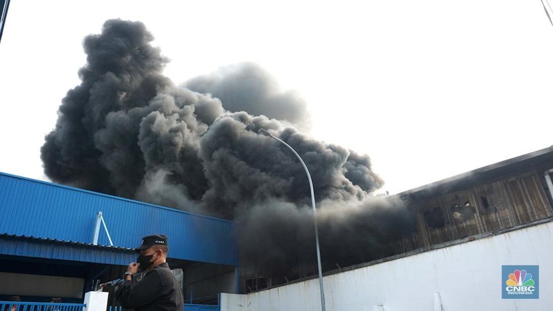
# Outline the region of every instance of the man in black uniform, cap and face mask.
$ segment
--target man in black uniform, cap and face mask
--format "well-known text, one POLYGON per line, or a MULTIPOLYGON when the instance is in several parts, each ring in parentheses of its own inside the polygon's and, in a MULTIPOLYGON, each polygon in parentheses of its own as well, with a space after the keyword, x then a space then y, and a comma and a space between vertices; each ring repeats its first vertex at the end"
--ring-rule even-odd
POLYGON ((182 289, 165 262, 167 249, 167 236, 156 234, 142 238, 142 244, 135 249, 140 252, 137 262, 126 267, 124 281, 115 293, 123 308, 183 310, 182 289), (139 268, 143 271, 141 277, 133 277, 139 268))

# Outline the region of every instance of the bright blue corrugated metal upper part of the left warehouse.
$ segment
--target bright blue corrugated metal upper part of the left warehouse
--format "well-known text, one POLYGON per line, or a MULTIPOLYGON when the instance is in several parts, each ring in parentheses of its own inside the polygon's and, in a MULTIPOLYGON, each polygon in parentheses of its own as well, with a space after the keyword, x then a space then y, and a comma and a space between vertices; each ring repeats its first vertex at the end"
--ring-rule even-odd
MULTIPOLYGON (((115 247, 166 234, 171 258, 238 265, 228 220, 0 173, 0 234, 92 243, 98 211, 115 247)), ((109 245, 104 229, 98 243, 109 245)))

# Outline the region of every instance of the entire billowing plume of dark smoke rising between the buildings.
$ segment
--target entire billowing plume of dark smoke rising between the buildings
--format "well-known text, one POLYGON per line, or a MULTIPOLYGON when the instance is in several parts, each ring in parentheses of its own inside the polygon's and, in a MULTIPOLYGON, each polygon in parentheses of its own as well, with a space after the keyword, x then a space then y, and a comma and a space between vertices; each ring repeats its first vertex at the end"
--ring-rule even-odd
MULTIPOLYGON (((245 262, 283 272, 315 256, 306 173, 320 207, 326 266, 380 256, 413 229, 400 204, 368 200, 371 160, 310 138, 306 104, 255 64, 176 86, 140 22, 109 20, 84 39, 82 83, 68 91, 41 149, 55 182, 234 219, 245 262)), ((299 273, 301 274, 301 273, 299 273)), ((298 275, 299 275, 298 274, 298 275)))

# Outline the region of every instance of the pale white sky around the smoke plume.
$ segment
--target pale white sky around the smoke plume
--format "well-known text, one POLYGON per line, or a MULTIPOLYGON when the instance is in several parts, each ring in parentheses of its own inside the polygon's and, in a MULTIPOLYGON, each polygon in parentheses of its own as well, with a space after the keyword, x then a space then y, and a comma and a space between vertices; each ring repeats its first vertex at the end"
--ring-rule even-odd
POLYGON ((82 39, 142 21, 177 84, 255 62, 308 104, 309 135, 397 193, 552 145, 553 27, 540 0, 13 0, 0 43, 0 171, 40 160, 82 39), (189 3, 191 2, 191 3, 189 3))

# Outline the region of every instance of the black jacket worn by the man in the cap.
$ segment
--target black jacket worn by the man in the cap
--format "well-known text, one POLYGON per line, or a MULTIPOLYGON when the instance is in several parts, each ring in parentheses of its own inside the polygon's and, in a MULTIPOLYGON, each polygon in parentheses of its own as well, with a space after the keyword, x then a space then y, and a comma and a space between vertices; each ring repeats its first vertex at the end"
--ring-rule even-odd
POLYGON ((133 276, 132 281, 123 281, 115 297, 123 308, 135 311, 182 311, 184 308, 182 289, 167 263, 147 271, 140 279, 133 276))

